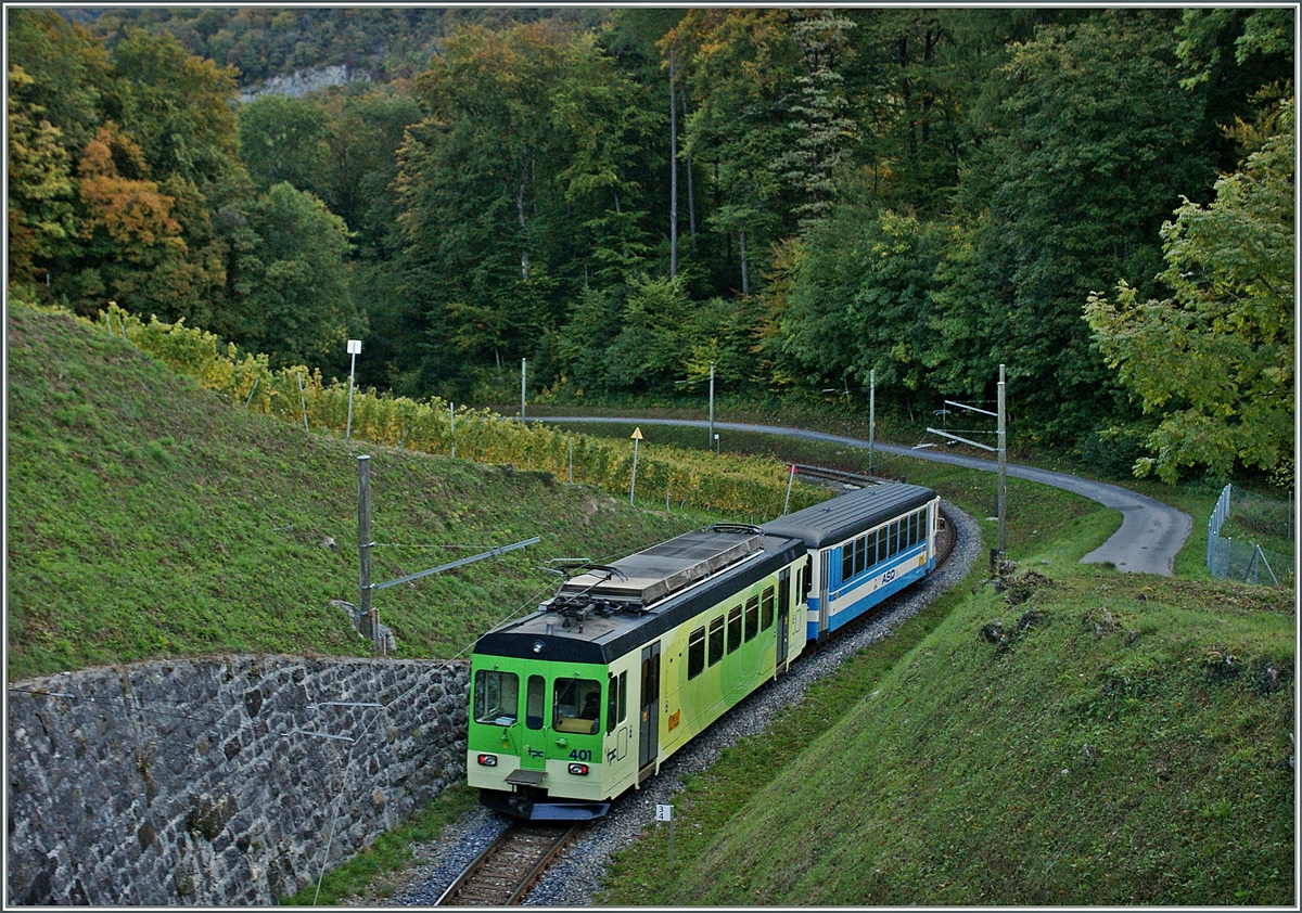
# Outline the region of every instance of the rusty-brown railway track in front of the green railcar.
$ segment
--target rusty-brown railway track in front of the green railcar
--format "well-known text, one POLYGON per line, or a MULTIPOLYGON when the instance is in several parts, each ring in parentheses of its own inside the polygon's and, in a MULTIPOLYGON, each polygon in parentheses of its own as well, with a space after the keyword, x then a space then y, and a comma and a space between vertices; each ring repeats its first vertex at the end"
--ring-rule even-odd
POLYGON ((514 906, 582 825, 557 827, 517 822, 479 853, 435 906, 514 906))

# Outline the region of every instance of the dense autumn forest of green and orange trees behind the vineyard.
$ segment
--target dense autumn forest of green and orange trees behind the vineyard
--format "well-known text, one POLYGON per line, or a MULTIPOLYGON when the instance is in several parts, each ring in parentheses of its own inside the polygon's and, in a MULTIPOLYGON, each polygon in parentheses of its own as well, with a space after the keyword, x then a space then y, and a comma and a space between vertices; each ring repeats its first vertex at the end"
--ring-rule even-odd
POLYGON ((1293 8, 7 16, 10 295, 458 402, 1004 363, 1023 441, 1292 484, 1293 8))

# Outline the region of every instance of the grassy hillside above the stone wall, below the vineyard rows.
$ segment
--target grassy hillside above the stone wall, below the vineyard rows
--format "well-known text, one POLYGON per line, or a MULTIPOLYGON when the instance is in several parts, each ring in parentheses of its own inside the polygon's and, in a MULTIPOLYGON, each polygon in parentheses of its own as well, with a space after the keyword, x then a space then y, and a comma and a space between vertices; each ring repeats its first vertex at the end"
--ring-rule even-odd
POLYGON ((329 605, 357 601, 363 453, 376 583, 543 540, 379 592, 404 657, 454 655, 527 607, 552 585, 538 570, 551 558, 609 558, 702 522, 250 416, 66 315, 12 303, 7 333, 9 680, 224 652, 367 653, 329 605))

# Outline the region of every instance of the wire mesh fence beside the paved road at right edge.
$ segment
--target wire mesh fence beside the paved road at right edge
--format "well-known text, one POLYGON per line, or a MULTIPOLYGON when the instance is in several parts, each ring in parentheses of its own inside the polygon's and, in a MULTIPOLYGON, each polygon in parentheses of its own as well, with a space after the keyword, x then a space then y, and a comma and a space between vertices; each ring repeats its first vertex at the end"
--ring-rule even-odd
POLYGON ((1223 580, 1292 587, 1293 540, 1292 492, 1285 502, 1225 485, 1207 520, 1207 570, 1223 580))

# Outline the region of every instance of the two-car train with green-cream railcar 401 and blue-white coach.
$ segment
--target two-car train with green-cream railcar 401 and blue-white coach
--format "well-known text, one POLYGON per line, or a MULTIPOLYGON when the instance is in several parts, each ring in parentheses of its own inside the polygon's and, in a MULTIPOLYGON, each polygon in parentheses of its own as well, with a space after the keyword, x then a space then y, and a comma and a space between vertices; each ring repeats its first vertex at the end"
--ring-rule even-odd
POLYGON ((470 786, 518 818, 605 814, 807 642, 931 572, 939 509, 927 488, 874 485, 573 568, 475 642, 470 786))

